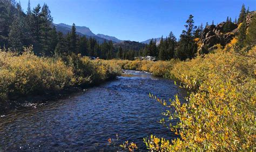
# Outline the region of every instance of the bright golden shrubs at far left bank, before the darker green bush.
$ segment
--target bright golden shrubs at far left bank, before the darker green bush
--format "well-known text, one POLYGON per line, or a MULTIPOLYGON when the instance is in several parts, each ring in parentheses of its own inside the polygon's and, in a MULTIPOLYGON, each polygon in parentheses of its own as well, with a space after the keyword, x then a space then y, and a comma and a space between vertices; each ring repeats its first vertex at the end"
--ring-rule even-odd
POLYGON ((0 62, 2 98, 72 85, 72 69, 59 59, 38 58, 27 50, 21 56, 0 52, 0 62))

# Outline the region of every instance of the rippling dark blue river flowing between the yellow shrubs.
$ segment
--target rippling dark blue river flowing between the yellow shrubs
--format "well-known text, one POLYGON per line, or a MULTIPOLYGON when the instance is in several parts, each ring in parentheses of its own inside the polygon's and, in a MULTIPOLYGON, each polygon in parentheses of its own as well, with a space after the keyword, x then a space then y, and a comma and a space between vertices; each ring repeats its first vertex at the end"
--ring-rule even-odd
MULTIPOLYGON (((109 151, 107 139, 119 136, 145 149, 144 137, 177 136, 158 121, 165 107, 149 98, 184 96, 172 80, 150 73, 125 70, 121 77, 37 108, 0 117, 1 150, 109 151)), ((182 97, 181 97, 182 98, 182 97)))

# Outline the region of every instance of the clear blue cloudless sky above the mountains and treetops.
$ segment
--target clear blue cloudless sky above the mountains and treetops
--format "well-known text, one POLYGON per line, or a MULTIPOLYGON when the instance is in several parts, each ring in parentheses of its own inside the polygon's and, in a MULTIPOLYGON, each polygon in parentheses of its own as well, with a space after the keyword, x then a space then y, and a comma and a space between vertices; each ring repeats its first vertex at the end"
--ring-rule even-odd
MULTIPOLYGON (((255 0, 31 0, 49 5, 54 23, 87 26, 95 34, 102 33, 122 40, 143 41, 166 37, 170 31, 178 37, 186 19, 194 16, 196 25, 220 23, 238 15, 242 3, 256 9, 255 0)), ((21 0, 26 11, 28 0, 21 0)))

